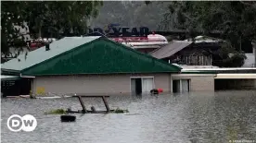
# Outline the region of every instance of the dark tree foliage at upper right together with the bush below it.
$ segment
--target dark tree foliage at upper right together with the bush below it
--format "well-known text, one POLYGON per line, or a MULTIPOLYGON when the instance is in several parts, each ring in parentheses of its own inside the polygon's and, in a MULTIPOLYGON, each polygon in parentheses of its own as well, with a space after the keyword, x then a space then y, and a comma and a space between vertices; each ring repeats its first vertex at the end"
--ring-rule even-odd
POLYGON ((217 66, 242 66, 245 54, 241 51, 241 42, 256 39, 256 2, 171 2, 169 13, 163 25, 189 31, 193 39, 195 31, 220 32, 222 39, 228 44, 218 53, 217 66), (227 53, 228 50, 228 53, 227 53), (228 56, 228 54, 234 54, 228 56), (221 61, 221 62, 220 62, 221 61), (222 63, 223 62, 223 63, 222 63))

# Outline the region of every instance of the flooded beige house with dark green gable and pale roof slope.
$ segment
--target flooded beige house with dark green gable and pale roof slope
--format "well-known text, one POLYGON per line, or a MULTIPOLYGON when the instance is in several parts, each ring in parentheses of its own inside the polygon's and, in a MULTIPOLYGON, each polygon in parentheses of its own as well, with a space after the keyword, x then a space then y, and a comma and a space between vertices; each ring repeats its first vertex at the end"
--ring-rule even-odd
MULTIPOLYGON (((1 66, 2 85, 29 94, 140 94, 170 92, 171 75, 181 71, 104 37, 65 37, 1 66), (12 82, 12 84, 9 84, 12 82), (20 86, 22 83, 24 86, 20 86)), ((11 93, 19 95, 21 92, 11 93)))

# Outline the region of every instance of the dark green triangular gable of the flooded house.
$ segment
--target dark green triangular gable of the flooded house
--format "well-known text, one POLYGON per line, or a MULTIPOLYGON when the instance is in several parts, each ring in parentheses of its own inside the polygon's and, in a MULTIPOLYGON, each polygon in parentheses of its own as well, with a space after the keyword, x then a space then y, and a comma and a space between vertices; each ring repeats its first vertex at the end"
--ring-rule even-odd
POLYGON ((22 70, 22 75, 78 75, 124 73, 177 73, 170 65, 106 38, 84 43, 67 53, 22 70))

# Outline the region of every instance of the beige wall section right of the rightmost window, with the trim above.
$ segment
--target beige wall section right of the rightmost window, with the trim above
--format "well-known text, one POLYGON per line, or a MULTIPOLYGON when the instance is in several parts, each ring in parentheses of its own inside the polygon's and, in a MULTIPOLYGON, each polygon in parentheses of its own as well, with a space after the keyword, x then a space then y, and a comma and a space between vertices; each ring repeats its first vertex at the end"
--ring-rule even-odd
POLYGON ((214 91, 214 77, 213 74, 175 74, 173 79, 190 79, 191 91, 214 91))

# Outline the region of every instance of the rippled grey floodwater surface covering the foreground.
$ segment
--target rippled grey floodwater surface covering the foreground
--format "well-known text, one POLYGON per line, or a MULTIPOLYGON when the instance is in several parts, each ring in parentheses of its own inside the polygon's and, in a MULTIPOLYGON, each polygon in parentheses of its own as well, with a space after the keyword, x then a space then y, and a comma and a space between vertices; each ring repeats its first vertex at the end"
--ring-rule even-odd
MULTIPOLYGON (((101 99, 83 99, 85 105, 104 110, 101 99)), ((57 108, 81 109, 77 99, 2 99, 2 142, 6 143, 169 143, 256 141, 256 91, 191 92, 186 94, 111 96, 109 106, 130 113, 76 114, 75 123, 61 123, 57 108), (7 129, 11 114, 32 114, 32 133, 7 129)))

